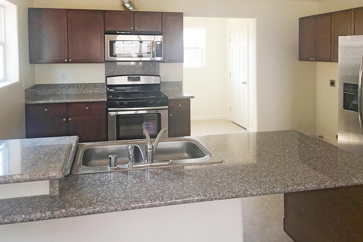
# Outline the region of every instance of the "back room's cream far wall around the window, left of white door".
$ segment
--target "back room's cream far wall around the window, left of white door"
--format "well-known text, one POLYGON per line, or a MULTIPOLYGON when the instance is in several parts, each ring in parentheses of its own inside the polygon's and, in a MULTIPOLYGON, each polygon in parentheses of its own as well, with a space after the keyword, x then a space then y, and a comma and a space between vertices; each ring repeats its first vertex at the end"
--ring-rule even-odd
POLYGON ((226 79, 224 18, 184 18, 184 28, 205 28, 205 67, 183 69, 184 91, 191 99, 191 119, 224 119, 226 79))

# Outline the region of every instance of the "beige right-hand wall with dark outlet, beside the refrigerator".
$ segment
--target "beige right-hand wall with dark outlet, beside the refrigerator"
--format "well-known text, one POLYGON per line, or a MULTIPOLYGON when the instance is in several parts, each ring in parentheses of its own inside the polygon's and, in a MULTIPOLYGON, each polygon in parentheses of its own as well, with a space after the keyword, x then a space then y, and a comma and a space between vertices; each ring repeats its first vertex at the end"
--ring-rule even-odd
MULTIPOLYGON (((317 13, 327 13, 362 7, 362 0, 325 0, 317 3, 317 13)), ((338 88, 330 87, 329 80, 338 81, 338 63, 316 63, 317 66, 317 135, 337 145, 338 88)))

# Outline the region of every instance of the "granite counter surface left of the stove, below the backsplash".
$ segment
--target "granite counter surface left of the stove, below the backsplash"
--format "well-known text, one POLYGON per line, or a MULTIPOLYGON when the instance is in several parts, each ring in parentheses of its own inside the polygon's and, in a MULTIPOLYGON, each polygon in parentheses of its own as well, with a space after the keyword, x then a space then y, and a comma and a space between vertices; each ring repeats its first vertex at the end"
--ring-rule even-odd
POLYGON ((105 93, 27 94, 25 104, 106 102, 105 93))

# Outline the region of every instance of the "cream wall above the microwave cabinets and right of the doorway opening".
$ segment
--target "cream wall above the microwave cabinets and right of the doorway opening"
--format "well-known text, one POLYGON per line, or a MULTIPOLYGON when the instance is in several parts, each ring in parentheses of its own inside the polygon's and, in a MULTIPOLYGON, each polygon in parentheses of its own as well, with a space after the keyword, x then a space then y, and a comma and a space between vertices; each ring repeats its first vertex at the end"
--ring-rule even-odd
MULTIPOLYGON (((268 0, 135 0, 140 10, 184 12, 185 17, 256 18, 257 130, 315 134, 315 63, 298 61, 298 18, 316 3, 268 0)), ((121 9, 119 0, 34 0, 35 7, 121 9)), ((218 29, 216 29, 216 33, 218 29)))

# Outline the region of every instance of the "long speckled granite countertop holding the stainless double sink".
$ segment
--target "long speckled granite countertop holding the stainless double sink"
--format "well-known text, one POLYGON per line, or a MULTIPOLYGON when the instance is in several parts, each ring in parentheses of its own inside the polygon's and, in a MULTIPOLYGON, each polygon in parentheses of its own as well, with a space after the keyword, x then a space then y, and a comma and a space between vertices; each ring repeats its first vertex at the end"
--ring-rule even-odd
POLYGON ((297 131, 199 139, 223 162, 69 175, 58 196, 0 200, 0 224, 363 184, 363 158, 297 131))

